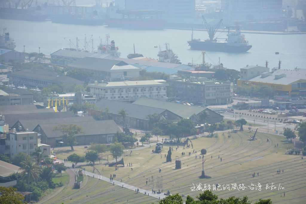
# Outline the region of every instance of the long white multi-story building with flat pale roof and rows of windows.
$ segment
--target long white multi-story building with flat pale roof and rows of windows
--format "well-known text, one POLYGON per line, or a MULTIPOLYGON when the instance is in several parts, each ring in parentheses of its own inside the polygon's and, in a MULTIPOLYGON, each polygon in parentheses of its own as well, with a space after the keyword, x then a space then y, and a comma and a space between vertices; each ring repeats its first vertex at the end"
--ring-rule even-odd
POLYGON ((88 84, 90 91, 97 98, 108 100, 131 101, 138 98, 166 98, 167 86, 165 80, 121 81, 109 83, 88 84))

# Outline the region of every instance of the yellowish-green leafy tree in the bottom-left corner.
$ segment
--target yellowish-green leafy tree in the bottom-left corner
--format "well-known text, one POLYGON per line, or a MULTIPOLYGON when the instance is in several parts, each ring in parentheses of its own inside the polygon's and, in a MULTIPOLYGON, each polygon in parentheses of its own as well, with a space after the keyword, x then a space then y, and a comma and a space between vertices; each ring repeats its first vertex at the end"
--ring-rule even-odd
POLYGON ((0 203, 2 204, 22 204, 24 197, 16 192, 17 189, 13 187, 0 187, 0 203))

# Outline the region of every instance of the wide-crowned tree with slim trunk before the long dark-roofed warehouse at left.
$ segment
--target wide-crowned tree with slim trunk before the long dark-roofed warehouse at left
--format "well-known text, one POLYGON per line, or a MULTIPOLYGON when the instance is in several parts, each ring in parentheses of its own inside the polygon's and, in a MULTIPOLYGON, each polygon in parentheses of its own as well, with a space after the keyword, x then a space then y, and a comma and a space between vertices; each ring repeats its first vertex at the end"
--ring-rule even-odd
POLYGON ((75 135, 82 133, 82 127, 75 124, 61 124, 55 126, 53 128, 53 131, 62 132, 62 137, 64 141, 66 141, 66 143, 71 147, 71 150, 73 151, 73 145, 75 144, 75 135))

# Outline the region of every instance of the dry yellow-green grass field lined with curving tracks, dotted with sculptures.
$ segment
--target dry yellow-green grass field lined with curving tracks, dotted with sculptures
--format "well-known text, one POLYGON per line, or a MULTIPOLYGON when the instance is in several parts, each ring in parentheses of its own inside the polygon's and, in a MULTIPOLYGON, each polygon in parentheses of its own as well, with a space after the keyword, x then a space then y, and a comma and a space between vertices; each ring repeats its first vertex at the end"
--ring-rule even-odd
MULTIPOLYGON (((287 155, 285 151, 293 146, 285 141, 284 137, 257 133, 257 140, 249 141, 248 135, 254 134, 248 131, 231 133, 228 139, 227 133, 218 133, 218 138, 200 137, 193 139, 194 149, 183 149, 182 146, 172 151, 172 162, 165 162, 165 154, 169 146, 163 146, 161 154, 154 154, 151 148, 134 150, 131 156, 124 156, 125 167, 119 165, 119 170, 105 165, 95 165, 103 176, 109 177, 116 174, 116 180, 121 180, 127 184, 151 191, 160 189, 171 194, 191 195, 195 197, 201 191, 192 191, 193 184, 244 184, 245 187, 252 184, 262 185, 261 191, 251 190, 216 190, 213 191, 219 198, 230 196, 242 197, 247 195, 254 202, 260 198, 271 198, 273 203, 305 203, 306 182, 304 177, 305 159, 301 156, 287 155), (269 142, 267 142, 269 139, 269 142), (277 146, 278 144, 278 146, 277 146), (205 174, 211 176, 210 179, 200 179, 202 171, 202 158, 199 159, 200 150, 205 148, 204 169, 205 174), (195 150, 197 153, 193 153, 195 150), (182 152, 185 155, 182 156, 182 152), (188 153, 191 152, 189 156, 188 153), (197 159, 195 156, 197 155, 197 159), (212 157, 211 157, 212 156, 212 157), (222 158, 222 161, 218 158, 222 158), (175 159, 181 160, 181 169, 175 169, 175 159), (126 167, 132 163, 131 167, 126 167), (159 173, 159 168, 161 172, 159 173), (281 169, 281 173, 277 173, 281 169), (284 172, 282 172, 284 170, 284 172), (257 176, 257 172, 259 176, 257 176), (255 177, 252 174, 255 173, 255 177), (146 184, 148 181, 148 184, 146 184), (277 189, 267 189, 266 184, 273 183, 277 189), (278 187, 282 186, 284 188, 278 187), (285 192, 285 197, 283 193, 285 192), (282 197, 281 197, 282 195, 282 197)), ((86 166, 86 170, 92 171, 91 166, 86 166)), ((107 182, 84 177, 84 186, 81 189, 71 189, 66 187, 57 198, 47 203, 157 203, 158 200, 135 194, 134 191, 118 186, 113 186, 107 182), (70 198, 72 198, 70 200, 70 198)), ((185 197, 184 197, 185 198, 185 197)))

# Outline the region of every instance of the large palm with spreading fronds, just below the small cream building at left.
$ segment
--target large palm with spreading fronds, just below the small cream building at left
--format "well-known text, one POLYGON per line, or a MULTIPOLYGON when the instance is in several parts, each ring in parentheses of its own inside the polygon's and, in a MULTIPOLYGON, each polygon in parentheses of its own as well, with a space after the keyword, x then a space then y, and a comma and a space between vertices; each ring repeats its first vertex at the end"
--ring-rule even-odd
POLYGON ((22 175, 27 178, 28 184, 32 181, 38 180, 41 169, 31 158, 26 158, 20 163, 20 165, 21 169, 24 170, 22 175))

